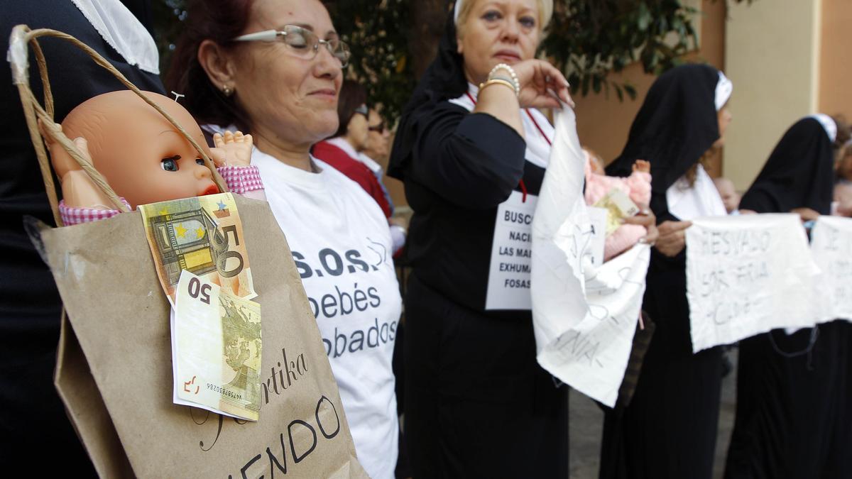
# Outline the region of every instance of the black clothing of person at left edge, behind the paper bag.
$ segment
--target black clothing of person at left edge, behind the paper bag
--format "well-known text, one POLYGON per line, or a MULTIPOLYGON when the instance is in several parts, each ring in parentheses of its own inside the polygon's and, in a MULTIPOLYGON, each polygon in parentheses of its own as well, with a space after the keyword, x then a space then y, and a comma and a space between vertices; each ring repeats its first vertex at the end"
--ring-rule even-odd
MULTIPOLYGON (((164 92, 157 75, 128 65, 73 3, 4 0, 0 10, 0 51, 9 48, 9 33, 17 24, 55 28, 101 53, 139 88, 164 92)), ((47 59, 57 122, 92 96, 124 89, 111 73, 70 43, 56 38, 42 38, 39 43, 47 59)), ((34 61, 31 64, 32 89, 42 98, 37 67, 34 61)), ((0 62, 0 250, 4 252, 0 264, 0 464, 14 458, 30 468, 43 464, 91 476, 94 470, 53 384, 60 297, 22 222, 24 215, 30 215, 53 224, 53 216, 11 75, 9 63, 0 62), (45 451, 59 451, 63 460, 44 464, 45 451)))

